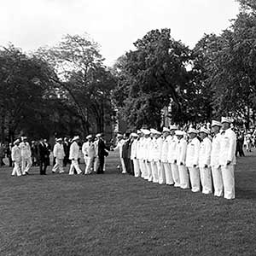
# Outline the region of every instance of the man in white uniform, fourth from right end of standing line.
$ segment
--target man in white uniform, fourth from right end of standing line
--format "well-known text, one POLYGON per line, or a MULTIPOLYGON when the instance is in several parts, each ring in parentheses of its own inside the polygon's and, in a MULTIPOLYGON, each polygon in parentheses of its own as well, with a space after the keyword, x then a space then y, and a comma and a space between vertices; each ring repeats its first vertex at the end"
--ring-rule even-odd
POLYGON ((200 172, 198 168, 200 142, 197 138, 198 131, 190 128, 189 143, 187 146, 186 166, 189 168, 189 178, 192 192, 200 191, 200 172))

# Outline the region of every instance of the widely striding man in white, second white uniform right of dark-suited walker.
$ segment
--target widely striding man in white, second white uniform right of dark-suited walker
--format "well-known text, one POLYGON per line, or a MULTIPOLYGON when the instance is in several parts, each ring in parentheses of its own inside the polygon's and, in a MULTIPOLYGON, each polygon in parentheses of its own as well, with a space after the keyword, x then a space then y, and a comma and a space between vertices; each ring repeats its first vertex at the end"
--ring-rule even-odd
POLYGON ((69 175, 73 175, 73 170, 75 169, 78 174, 82 171, 79 167, 79 136, 73 137, 72 144, 69 149, 69 159, 71 160, 71 165, 69 169, 69 175))

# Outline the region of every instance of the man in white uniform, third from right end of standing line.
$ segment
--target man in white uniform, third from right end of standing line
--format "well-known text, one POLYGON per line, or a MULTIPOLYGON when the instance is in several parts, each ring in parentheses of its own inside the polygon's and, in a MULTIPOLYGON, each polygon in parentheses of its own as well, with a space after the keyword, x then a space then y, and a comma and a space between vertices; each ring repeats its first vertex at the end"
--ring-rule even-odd
POLYGON ((212 172, 211 172, 211 150, 212 142, 208 137, 210 131, 206 128, 201 127, 199 131, 201 137, 200 149, 199 149, 199 169, 200 169, 200 178, 203 194, 212 193, 212 172))

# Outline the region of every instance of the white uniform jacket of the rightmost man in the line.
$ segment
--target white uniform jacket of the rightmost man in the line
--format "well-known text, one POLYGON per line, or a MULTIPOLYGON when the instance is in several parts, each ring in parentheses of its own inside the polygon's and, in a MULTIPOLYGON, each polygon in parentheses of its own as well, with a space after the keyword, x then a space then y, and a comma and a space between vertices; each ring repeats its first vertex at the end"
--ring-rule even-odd
POLYGON ((236 165, 236 133, 231 129, 222 132, 220 139, 219 164, 225 166, 229 160, 230 165, 236 165))

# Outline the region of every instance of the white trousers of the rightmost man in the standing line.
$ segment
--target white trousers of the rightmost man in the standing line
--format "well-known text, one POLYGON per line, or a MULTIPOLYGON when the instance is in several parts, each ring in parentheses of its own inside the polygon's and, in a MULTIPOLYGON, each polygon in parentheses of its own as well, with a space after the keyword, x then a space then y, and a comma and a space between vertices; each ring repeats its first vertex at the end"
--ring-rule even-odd
POLYGON ((235 198, 235 166, 221 166, 224 185, 224 198, 235 198))

